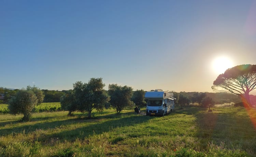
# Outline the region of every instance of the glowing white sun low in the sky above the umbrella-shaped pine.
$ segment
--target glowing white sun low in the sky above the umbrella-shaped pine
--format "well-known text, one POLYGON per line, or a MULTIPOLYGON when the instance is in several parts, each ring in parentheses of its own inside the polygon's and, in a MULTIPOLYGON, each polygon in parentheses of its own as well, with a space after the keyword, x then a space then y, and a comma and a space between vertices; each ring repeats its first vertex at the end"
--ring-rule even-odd
POLYGON ((233 62, 228 57, 217 57, 212 62, 212 68, 217 74, 224 73, 228 68, 233 67, 233 62))

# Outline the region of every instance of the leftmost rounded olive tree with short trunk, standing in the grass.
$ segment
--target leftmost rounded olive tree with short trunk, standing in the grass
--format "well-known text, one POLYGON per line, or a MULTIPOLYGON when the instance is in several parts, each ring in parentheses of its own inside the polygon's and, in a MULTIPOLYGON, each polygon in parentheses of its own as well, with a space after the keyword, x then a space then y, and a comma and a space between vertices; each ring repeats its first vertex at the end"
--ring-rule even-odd
POLYGON ((31 90, 19 90, 15 97, 9 102, 9 110, 11 114, 24 114, 23 120, 29 121, 31 111, 38 103, 38 99, 31 90))

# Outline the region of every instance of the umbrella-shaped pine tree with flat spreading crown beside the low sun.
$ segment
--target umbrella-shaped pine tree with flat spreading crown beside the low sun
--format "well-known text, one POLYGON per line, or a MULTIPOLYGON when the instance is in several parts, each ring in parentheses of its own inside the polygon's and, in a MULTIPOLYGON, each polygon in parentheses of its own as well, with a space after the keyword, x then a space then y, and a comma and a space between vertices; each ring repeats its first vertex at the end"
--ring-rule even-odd
POLYGON ((213 82, 212 89, 239 95, 247 104, 251 104, 249 93, 256 88, 256 65, 239 65, 227 69, 213 82))

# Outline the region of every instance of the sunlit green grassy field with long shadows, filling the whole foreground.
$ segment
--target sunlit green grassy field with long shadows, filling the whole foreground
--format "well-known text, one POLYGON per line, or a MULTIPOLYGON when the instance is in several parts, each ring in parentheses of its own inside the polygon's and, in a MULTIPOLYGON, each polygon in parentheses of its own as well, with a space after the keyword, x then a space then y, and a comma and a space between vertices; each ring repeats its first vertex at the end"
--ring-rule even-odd
MULTIPOLYGON (((108 109, 0 115, 0 156, 256 156, 256 129, 244 108, 176 109, 164 117, 108 109)), ((250 114, 248 114, 250 112, 250 114)))

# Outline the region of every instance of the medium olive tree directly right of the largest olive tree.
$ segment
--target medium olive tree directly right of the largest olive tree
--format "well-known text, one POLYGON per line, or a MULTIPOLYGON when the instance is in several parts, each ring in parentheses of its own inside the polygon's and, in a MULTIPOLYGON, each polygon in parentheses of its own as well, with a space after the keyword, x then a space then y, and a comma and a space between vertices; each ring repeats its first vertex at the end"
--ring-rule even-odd
POLYGON ((131 101, 132 88, 128 86, 118 86, 117 84, 109 85, 110 104, 117 113, 129 106, 133 106, 131 101))

